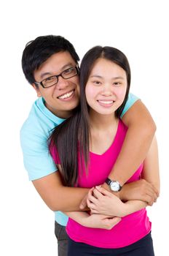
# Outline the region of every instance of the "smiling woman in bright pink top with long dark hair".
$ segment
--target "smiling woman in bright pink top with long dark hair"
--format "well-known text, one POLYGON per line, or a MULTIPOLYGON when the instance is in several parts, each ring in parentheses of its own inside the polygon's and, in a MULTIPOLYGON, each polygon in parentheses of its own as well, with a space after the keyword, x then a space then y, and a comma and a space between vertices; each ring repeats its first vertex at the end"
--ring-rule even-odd
MULTIPOLYGON (((124 53, 96 46, 85 54, 80 74, 81 105, 73 117, 56 127, 50 140, 50 151, 60 164, 66 185, 95 187, 106 181, 125 140, 127 127, 119 116, 129 89, 130 66, 124 53)), ((159 190, 155 139, 144 164, 128 182, 140 177, 159 190)), ((145 202, 124 203, 98 187, 90 191, 87 204, 92 215, 68 213, 68 255, 154 255, 145 202), (108 222, 115 219, 114 227, 91 228, 87 221, 93 214, 97 214, 96 218, 107 218, 108 222)))

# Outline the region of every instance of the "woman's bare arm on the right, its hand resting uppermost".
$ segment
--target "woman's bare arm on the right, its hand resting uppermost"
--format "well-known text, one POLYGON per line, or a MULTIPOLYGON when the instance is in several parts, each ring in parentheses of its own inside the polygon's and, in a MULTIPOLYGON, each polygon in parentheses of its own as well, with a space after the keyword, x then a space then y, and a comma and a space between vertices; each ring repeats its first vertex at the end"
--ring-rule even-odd
MULTIPOLYGON (((152 145, 149 148, 149 152, 144 161, 144 170, 142 176, 146 181, 149 181, 157 193, 160 192, 160 175, 158 164, 158 151, 157 140, 154 138, 152 145)), ((91 212, 94 214, 106 214, 110 216, 123 217, 127 214, 131 214, 135 211, 144 208, 147 205, 141 200, 128 200, 126 203, 120 203, 119 198, 113 195, 111 192, 103 189, 103 187, 96 187, 90 189, 87 206, 90 207, 91 212)))

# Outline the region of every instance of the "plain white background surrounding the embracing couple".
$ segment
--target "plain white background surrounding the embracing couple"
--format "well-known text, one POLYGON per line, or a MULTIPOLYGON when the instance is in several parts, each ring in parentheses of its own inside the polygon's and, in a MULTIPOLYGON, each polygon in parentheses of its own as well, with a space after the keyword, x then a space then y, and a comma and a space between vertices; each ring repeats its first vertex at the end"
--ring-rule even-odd
POLYGON ((141 97, 157 124, 161 195, 148 211, 156 256, 167 255, 167 2, 16 0, 1 4, 0 255, 57 255, 54 214, 28 181, 19 141, 20 127, 36 99, 23 76, 20 59, 26 42, 46 34, 66 37, 81 59, 94 45, 111 45, 127 55, 132 70, 131 91, 141 97))

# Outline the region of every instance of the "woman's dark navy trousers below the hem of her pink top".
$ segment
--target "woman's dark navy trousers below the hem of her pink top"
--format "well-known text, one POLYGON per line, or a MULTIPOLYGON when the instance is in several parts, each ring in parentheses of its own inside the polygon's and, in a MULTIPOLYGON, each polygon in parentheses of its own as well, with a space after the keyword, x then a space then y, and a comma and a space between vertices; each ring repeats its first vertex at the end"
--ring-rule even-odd
POLYGON ((68 238, 68 256, 154 256, 152 236, 149 233, 141 240, 118 249, 104 249, 77 243, 68 238))

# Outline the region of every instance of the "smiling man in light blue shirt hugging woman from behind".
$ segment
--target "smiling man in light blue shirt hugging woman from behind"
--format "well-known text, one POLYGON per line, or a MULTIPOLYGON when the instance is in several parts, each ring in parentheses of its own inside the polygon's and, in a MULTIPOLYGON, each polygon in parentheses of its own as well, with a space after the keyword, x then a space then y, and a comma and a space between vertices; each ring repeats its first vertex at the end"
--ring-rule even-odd
MULTIPOLYGON (((50 157, 47 139, 51 130, 71 116, 79 103, 78 61, 73 45, 63 37, 52 35, 29 42, 22 58, 25 78, 39 97, 20 131, 23 159, 29 179, 47 206, 55 211, 55 235, 60 256, 66 255, 67 244, 67 217, 60 211, 79 211, 81 202, 81 208, 84 208, 85 200, 82 199, 88 189, 63 186, 50 157)), ((146 181, 135 182, 130 189, 124 185, 119 190, 144 160, 154 136, 154 121, 143 103, 132 94, 122 113, 122 121, 128 127, 125 143, 109 175, 110 186, 105 183, 103 187, 122 200, 141 199, 151 205, 157 193, 146 181)))

